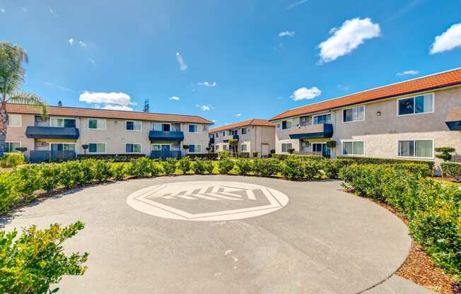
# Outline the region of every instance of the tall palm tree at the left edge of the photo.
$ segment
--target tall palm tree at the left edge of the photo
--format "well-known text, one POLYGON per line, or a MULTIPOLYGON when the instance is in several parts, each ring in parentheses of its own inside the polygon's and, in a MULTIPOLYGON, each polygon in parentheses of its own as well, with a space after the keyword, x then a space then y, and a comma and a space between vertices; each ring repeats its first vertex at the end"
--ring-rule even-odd
POLYGON ((30 92, 19 92, 24 82, 25 69, 23 63, 28 62, 24 49, 10 42, 0 42, 0 156, 4 155, 8 111, 6 103, 23 103, 42 109, 45 115, 45 101, 30 92))

